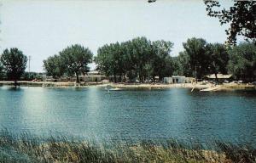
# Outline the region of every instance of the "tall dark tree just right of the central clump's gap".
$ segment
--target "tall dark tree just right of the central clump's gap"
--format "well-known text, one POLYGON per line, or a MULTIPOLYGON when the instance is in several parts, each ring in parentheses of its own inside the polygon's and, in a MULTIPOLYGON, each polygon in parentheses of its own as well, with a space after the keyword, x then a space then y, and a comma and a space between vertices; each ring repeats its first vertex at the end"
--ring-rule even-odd
POLYGON ((190 38, 187 42, 183 43, 183 48, 189 59, 189 66, 193 71, 193 75, 197 79, 207 74, 209 65, 209 56, 206 53, 207 42, 202 38, 190 38))

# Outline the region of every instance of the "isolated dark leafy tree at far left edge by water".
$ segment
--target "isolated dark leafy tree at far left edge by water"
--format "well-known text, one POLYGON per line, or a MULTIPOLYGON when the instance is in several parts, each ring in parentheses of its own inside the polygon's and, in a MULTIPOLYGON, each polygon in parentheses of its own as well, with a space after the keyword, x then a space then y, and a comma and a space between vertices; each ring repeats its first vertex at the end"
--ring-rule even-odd
POLYGON ((27 57, 18 48, 5 49, 0 60, 8 80, 18 81, 26 70, 27 57))

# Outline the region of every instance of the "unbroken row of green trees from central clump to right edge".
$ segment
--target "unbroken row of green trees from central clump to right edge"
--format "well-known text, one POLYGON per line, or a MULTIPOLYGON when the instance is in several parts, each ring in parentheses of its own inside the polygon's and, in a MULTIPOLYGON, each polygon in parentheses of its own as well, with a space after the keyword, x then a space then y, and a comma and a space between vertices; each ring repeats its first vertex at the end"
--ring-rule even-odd
MULTIPOLYGON (((170 55, 172 42, 151 42, 146 37, 137 37, 127 42, 106 44, 98 49, 95 62, 98 70, 140 82, 159 76, 179 75, 202 79, 209 74, 233 74, 236 79, 252 82, 256 79, 256 46, 250 42, 230 47, 221 43, 208 43, 202 38, 189 38, 183 42, 184 51, 170 55)), ((125 79, 125 78, 124 78, 125 79)))

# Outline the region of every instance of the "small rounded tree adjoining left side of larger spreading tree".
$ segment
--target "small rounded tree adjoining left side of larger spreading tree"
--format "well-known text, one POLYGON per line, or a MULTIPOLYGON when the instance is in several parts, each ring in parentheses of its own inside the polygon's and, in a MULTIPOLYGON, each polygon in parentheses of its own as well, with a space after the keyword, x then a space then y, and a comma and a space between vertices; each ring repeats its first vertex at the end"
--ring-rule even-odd
POLYGON ((50 56, 44 60, 44 70, 47 76, 61 77, 65 73, 66 67, 59 55, 50 56))

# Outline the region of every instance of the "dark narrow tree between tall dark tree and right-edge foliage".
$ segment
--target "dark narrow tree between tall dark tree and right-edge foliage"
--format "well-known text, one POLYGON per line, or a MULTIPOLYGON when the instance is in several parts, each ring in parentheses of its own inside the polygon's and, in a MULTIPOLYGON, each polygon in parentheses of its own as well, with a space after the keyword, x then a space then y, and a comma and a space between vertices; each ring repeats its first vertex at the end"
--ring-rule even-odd
POLYGON ((218 72, 222 74, 227 74, 228 72, 229 54, 227 49, 224 47, 224 44, 209 43, 207 44, 207 55, 210 61, 208 65, 209 73, 214 74, 218 81, 218 72))

